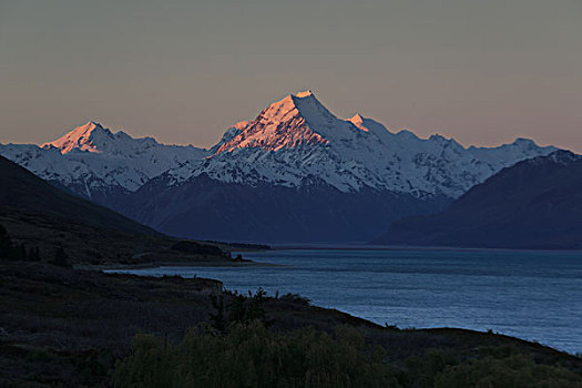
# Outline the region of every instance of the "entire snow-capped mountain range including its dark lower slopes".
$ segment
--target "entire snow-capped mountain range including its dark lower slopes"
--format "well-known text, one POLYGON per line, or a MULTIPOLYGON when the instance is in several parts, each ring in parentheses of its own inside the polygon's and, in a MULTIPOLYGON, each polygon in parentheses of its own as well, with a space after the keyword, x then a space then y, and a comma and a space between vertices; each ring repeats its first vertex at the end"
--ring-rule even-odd
POLYGON ((0 154, 163 233, 247 242, 363 242, 409 215, 443 210, 517 162, 548 155, 518 139, 464 147, 441 135, 344 120, 310 91, 272 103, 210 150, 133 139, 90 122, 0 154))

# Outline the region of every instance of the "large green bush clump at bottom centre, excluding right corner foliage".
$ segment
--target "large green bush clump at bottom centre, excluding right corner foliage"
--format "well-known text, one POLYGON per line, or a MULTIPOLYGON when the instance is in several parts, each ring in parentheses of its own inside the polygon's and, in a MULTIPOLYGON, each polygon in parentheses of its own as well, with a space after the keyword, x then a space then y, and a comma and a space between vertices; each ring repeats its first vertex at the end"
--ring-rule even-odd
POLYGON ((216 336, 190 330, 180 346, 137 336, 118 363, 116 387, 399 387, 385 351, 356 329, 276 334, 261 321, 216 336))

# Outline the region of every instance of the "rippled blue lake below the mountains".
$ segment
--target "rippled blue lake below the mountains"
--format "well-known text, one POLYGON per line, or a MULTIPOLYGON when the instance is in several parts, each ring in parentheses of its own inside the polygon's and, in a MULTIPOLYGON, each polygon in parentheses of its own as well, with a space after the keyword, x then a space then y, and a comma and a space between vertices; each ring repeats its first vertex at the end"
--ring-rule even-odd
POLYGON ((123 272, 216 278, 231 290, 297 293, 380 325, 492 329, 582 351, 580 252, 288 249, 244 256, 286 266, 123 272))

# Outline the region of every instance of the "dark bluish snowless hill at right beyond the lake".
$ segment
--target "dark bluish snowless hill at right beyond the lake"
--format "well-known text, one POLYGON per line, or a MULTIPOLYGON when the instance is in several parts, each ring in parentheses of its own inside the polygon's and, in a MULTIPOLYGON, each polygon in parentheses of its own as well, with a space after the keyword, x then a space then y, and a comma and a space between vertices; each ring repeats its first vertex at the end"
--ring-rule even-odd
POLYGON ((582 157, 557 151, 520 162, 441 213, 392 224, 375 243, 581 249, 582 157))

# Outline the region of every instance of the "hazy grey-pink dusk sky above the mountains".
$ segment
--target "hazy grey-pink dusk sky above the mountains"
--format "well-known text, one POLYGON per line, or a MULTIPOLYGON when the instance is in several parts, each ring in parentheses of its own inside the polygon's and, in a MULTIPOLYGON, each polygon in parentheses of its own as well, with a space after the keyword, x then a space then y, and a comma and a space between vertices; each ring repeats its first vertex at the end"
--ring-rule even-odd
POLYGON ((580 0, 0 0, 0 142, 89 120, 214 144, 310 89, 339 118, 582 153, 580 0))

